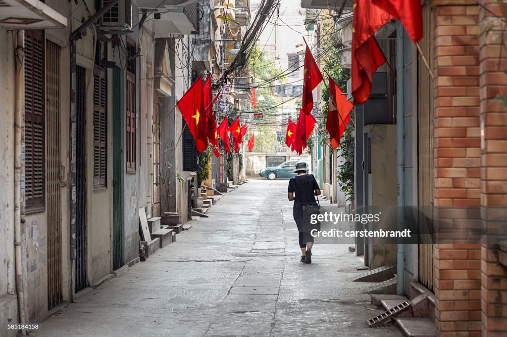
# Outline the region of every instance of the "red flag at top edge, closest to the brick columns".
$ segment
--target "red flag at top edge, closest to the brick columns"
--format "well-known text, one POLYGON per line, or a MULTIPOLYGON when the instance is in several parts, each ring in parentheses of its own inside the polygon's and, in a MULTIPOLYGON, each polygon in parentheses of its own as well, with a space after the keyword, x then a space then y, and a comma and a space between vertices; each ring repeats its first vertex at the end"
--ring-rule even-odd
POLYGON ((422 6, 419 0, 373 0, 373 4, 398 18, 415 42, 422 37, 422 6))

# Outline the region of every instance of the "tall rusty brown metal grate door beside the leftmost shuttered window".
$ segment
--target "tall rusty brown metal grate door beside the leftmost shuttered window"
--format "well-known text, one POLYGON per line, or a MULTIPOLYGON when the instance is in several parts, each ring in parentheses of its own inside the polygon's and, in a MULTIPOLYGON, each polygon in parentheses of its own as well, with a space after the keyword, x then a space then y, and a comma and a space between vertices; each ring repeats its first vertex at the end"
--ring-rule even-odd
POLYGON ((60 47, 46 43, 48 310, 62 302, 60 194, 60 47))

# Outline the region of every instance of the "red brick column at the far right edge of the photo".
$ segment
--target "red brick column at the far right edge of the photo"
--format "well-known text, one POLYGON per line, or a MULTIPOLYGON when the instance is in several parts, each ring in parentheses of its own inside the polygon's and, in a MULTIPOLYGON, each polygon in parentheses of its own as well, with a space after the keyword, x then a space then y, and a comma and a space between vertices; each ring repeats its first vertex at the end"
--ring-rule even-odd
MULTIPOLYGON (((481 203, 507 206, 507 111, 492 99, 507 97, 507 50, 498 4, 482 0, 480 10, 481 203), (487 33, 490 27, 494 27, 487 33), (502 37, 503 35, 503 37, 502 37)), ((494 215, 493 212, 489 212, 494 215)), ((501 215, 505 220, 505 215, 501 215)), ((507 336, 507 268, 498 263, 498 245, 482 246, 482 335, 507 336)))

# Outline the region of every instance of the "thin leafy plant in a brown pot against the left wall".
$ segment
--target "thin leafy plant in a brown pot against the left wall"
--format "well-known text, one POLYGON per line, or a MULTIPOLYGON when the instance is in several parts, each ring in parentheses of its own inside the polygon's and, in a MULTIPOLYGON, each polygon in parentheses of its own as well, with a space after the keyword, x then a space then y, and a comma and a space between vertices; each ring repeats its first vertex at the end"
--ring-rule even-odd
MULTIPOLYGON (((164 204, 164 209, 167 211, 171 209, 172 184, 177 181, 184 182, 185 179, 173 171, 171 161, 166 160, 166 153, 167 149, 164 150, 164 154, 161 158, 162 160, 160 164, 157 165, 157 177, 161 191, 160 199, 164 204)), ((163 214, 160 215, 160 218, 160 223, 163 226, 176 226, 179 223, 179 214, 174 212, 163 212, 163 214)))

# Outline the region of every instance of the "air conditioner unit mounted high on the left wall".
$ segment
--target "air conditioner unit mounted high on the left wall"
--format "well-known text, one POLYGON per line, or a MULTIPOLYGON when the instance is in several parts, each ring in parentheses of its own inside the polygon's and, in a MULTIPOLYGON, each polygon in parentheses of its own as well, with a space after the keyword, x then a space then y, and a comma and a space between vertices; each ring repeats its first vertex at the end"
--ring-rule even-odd
MULTIPOLYGON (((101 0, 102 7, 109 3, 101 0)), ((100 30, 110 34, 125 34, 132 32, 132 1, 120 0, 118 4, 104 13, 100 18, 100 30)))

